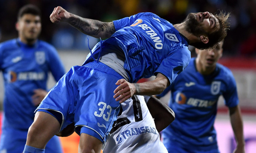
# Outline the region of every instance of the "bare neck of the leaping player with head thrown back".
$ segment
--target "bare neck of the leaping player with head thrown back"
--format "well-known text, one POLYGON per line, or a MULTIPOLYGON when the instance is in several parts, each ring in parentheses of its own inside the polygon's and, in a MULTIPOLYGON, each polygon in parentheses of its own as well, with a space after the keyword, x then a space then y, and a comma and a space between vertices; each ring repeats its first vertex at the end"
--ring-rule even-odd
POLYGON ((188 39, 189 44, 200 42, 200 37, 197 37, 197 36, 189 33, 187 30, 185 30, 185 24, 184 23, 174 24, 173 27, 188 39))

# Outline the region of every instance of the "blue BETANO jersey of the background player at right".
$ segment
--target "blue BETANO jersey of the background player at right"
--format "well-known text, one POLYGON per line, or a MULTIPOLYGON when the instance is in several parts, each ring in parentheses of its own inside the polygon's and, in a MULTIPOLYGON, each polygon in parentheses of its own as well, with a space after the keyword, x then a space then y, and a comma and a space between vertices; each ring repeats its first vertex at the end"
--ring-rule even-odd
POLYGON ((210 75, 196 70, 195 58, 178 75, 172 85, 159 95, 171 90, 169 107, 175 112, 175 120, 163 130, 164 145, 170 141, 180 147, 197 150, 218 150, 214 120, 217 101, 221 95, 228 107, 238 105, 236 82, 231 71, 217 63, 210 75))

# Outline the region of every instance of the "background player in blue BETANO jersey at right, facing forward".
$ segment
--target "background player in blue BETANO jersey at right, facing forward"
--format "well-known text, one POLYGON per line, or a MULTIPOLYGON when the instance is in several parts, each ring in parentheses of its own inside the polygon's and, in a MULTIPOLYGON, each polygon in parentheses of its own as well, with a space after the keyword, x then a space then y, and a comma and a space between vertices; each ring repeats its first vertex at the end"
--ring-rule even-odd
POLYGON ((163 130, 168 152, 219 153, 214 120, 221 95, 229 107, 231 125, 237 142, 234 153, 244 153, 243 124, 238 106, 237 87, 231 71, 217 63, 223 42, 215 49, 199 50, 187 68, 158 97, 171 91, 169 107, 176 119, 163 130))

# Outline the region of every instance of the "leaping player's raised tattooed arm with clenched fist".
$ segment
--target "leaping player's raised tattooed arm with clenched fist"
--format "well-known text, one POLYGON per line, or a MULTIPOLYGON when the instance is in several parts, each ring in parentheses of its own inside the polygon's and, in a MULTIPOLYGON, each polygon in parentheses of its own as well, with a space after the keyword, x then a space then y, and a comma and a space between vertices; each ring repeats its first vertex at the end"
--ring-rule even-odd
POLYGON ((54 8, 50 15, 50 20, 52 23, 59 23, 60 21, 68 22, 71 26, 77 28, 84 34, 95 38, 109 38, 116 31, 113 22, 86 19, 69 13, 62 7, 54 8))

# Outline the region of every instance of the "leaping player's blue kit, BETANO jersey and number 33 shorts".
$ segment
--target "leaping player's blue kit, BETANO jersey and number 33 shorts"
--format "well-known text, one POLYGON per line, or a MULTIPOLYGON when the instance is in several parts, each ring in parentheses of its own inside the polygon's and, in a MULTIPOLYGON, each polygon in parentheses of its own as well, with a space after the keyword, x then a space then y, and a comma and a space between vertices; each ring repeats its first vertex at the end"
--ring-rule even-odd
POLYGON ((78 134, 87 133, 102 142, 120 110, 113 98, 119 79, 137 82, 162 73, 171 83, 191 58, 188 40, 153 13, 113 23, 116 32, 96 44, 82 66, 72 67, 38 107, 61 112, 61 129, 74 121, 78 134))

